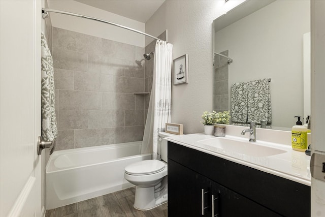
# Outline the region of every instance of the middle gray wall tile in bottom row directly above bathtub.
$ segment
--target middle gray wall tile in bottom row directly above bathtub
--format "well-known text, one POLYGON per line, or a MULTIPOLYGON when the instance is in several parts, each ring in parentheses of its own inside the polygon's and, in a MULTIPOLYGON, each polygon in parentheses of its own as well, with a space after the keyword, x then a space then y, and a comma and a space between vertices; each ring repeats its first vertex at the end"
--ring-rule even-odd
POLYGON ((114 143, 114 128, 75 130, 75 148, 114 143))

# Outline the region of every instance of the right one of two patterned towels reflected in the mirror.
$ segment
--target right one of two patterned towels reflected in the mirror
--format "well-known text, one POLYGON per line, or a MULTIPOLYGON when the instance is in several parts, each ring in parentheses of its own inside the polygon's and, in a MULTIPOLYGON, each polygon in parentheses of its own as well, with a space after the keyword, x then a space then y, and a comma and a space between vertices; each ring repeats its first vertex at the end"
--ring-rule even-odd
POLYGON ((250 81, 248 84, 247 120, 272 122, 271 94, 268 79, 250 81))

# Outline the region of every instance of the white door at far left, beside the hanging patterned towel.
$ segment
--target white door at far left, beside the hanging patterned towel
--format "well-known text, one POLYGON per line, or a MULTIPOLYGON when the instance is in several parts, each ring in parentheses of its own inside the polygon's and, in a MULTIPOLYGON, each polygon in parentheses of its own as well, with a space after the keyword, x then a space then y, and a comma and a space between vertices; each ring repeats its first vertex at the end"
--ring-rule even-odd
POLYGON ((0 0, 0 216, 41 216, 41 1, 0 0))

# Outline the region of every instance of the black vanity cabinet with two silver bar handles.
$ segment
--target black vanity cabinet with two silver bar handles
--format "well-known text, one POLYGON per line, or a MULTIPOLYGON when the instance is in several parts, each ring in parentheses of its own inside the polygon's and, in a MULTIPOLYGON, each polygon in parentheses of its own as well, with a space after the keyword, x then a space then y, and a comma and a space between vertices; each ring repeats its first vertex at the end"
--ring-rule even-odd
POLYGON ((310 187, 168 142, 168 216, 310 216, 310 187))

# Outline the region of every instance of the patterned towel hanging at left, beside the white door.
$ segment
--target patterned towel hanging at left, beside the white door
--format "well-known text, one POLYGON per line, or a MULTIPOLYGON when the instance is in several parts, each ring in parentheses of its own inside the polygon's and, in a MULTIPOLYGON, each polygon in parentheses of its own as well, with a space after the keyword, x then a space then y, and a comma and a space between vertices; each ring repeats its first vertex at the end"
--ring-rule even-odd
POLYGON ((44 33, 41 36, 42 46, 42 137, 44 141, 54 141, 57 136, 54 108, 54 69, 50 49, 44 33))

